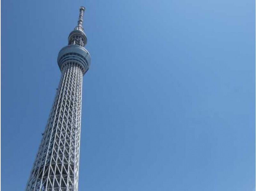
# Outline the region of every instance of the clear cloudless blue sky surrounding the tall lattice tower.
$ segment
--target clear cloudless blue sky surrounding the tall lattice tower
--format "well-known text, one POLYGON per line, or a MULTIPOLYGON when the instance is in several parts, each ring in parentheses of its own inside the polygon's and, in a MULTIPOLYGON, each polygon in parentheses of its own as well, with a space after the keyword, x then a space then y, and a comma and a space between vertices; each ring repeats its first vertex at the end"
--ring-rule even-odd
POLYGON ((79 190, 255 190, 255 1, 1 3, 3 191, 25 189, 81 5, 79 190))

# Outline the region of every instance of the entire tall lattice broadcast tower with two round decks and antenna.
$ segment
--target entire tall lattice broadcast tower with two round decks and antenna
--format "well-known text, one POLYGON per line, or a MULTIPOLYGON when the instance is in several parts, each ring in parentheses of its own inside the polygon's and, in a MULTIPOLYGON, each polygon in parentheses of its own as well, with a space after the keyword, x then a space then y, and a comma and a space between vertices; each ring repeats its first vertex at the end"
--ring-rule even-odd
POLYGON ((82 80, 91 58, 82 27, 84 7, 68 46, 58 55, 61 78, 26 191, 77 191, 81 130, 82 80))

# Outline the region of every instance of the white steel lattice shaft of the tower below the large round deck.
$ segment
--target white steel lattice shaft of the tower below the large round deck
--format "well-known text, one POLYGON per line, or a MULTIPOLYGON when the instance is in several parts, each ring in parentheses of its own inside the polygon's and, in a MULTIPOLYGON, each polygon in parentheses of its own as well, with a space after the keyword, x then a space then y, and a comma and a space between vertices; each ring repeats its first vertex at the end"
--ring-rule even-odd
POLYGON ((77 190, 82 68, 65 65, 27 190, 77 190))

